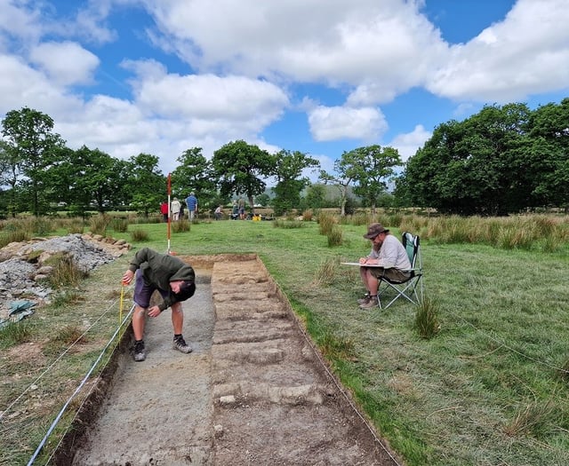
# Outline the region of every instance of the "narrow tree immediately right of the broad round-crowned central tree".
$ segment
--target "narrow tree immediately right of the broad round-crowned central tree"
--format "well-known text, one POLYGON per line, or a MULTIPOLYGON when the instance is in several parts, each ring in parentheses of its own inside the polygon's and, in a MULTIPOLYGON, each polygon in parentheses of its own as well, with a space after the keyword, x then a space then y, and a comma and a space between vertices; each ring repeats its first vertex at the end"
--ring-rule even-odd
POLYGON ((272 204, 275 214, 282 215, 300 206, 301 191, 310 183, 309 178, 301 177, 302 170, 318 167, 320 163, 299 151, 282 150, 274 157, 276 186, 272 204))

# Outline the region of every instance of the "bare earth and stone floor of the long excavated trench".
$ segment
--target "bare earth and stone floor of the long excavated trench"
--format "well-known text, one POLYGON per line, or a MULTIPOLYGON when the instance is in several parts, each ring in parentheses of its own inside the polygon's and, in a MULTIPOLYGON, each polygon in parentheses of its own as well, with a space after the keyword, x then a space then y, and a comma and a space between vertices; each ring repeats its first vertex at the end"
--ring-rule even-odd
POLYGON ((183 306, 194 351, 172 350, 169 311, 148 320, 146 361, 119 358, 73 464, 397 464, 256 257, 183 258, 197 275, 183 306))

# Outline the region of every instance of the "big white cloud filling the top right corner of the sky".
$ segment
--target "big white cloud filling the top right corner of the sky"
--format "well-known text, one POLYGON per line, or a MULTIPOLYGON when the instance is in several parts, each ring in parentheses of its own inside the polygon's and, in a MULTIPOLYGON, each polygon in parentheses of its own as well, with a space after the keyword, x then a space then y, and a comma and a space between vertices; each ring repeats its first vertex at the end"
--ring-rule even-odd
POLYGON ((504 21, 454 45, 427 87, 452 99, 497 103, 569 89, 567 24, 565 0, 518 0, 504 21))

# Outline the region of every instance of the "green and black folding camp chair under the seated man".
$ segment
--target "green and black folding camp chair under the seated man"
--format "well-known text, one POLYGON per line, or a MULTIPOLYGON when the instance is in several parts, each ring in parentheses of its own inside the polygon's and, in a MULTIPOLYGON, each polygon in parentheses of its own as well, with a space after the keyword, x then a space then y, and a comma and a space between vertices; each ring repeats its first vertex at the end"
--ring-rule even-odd
POLYGON ((421 246, 419 236, 405 232, 403 233, 401 242, 407 251, 407 256, 409 256, 409 262, 411 263, 411 268, 406 272, 411 273, 409 274, 409 278, 403 281, 389 280, 386 277, 380 278, 377 300, 381 309, 387 309, 400 297, 405 297, 407 301, 410 301, 413 304, 421 304, 421 300, 423 298, 423 269, 421 263, 421 246), (381 288, 381 283, 385 283, 386 286, 381 288), (381 296, 388 290, 395 291, 396 296, 391 299, 387 305, 383 306, 381 305, 381 296))

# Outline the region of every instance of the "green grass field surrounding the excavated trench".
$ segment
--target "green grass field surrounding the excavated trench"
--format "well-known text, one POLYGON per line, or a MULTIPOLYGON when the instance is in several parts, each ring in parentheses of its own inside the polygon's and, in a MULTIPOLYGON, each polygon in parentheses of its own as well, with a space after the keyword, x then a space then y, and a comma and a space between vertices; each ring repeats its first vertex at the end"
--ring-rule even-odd
MULTIPOLYGON (((528 226, 529 218, 452 223, 449 218, 399 215, 393 216, 393 224, 390 218, 380 215, 377 221, 397 235, 403 230, 424 233, 429 301, 423 303, 428 312, 421 318, 418 306, 404 300, 385 311, 357 308, 363 292, 359 272, 340 262, 369 252, 370 243, 362 238, 365 225, 338 225, 320 216, 325 228, 315 221, 303 222, 301 228, 276 228, 273 222, 199 222, 189 233, 172 233, 171 241, 180 256, 259 254, 335 373, 405 464, 568 464, 566 218, 564 223, 563 217, 549 222, 535 217, 539 228, 532 230, 529 246, 523 238, 505 241, 505 232, 513 225, 528 226), (342 241, 329 247, 326 234, 333 227, 341 229, 342 241), (554 248, 545 249, 548 234, 557 240, 554 248), (437 332, 421 336, 417 319, 437 332)), ((130 225, 129 232, 115 236, 129 241, 132 228, 147 233, 132 253, 145 246, 167 248, 165 224, 130 225)), ((73 300, 45 310, 42 326, 31 328, 34 344, 57 339, 57 328, 70 323, 66 306, 67 315, 83 315, 92 299, 105 298, 100 288, 111 276, 119 280, 128 257, 100 267, 84 281, 82 287, 99 288, 86 303, 73 300)), ((69 373, 80 377, 78 356, 87 359, 89 348, 103 341, 116 321, 109 318, 105 325, 76 350, 80 352, 69 362, 69 373)), ((28 375, 14 379, 9 394, 0 397, 0 410, 40 370, 12 367, 5 354, 0 358, 9 376, 28 375)), ((53 380, 58 377, 68 380, 70 375, 53 375, 53 380)))

